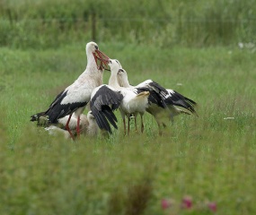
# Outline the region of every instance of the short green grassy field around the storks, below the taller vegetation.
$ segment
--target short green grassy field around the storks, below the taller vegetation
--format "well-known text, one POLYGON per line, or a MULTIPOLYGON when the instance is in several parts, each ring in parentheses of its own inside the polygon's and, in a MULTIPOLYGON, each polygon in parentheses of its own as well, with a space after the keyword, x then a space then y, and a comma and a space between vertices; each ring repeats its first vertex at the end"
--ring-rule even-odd
POLYGON ((253 50, 99 43, 131 83, 150 78, 177 90, 199 103, 199 117, 176 117, 162 136, 152 116, 145 133, 125 137, 119 120, 110 138, 71 142, 29 120, 84 71, 86 42, 1 48, 0 213, 211 214, 214 202, 217 214, 255 214, 253 50), (190 209, 181 207, 186 196, 190 209), (172 205, 163 209, 163 200, 172 205))

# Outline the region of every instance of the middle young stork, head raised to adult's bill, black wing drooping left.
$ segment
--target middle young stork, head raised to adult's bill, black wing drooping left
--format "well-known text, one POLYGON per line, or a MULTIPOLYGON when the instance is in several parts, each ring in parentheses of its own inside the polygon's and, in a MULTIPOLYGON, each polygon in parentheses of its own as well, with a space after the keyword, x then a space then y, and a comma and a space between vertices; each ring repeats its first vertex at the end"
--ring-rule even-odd
POLYGON ((102 85, 93 90, 91 99, 91 109, 98 125, 100 128, 110 132, 109 120, 110 124, 117 128, 117 125, 115 124, 117 118, 112 113, 112 110, 119 107, 125 134, 127 130, 125 116, 128 117, 128 133, 131 115, 137 116, 139 113, 141 116, 142 127, 144 127, 143 114, 146 112, 146 107, 148 106, 149 92, 142 91, 141 93, 136 93, 132 89, 120 87, 117 74, 121 65, 118 60, 110 60, 109 65, 111 71, 109 85, 102 85))

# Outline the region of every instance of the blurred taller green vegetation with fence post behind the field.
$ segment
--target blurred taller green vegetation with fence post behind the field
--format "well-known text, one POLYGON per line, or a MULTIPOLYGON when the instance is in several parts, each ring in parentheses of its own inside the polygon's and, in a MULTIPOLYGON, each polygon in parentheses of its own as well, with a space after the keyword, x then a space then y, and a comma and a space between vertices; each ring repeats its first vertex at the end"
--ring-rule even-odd
POLYGON ((0 0, 0 46, 95 40, 204 47, 255 42, 254 0, 0 0))

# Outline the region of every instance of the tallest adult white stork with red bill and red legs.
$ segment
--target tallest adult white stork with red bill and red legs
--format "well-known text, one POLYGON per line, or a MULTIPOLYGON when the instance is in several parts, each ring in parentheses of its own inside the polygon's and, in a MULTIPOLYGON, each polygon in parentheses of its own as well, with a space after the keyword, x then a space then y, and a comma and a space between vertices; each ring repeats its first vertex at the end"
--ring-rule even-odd
POLYGON ((103 64, 106 65, 109 62, 109 57, 103 54, 94 42, 86 44, 86 55, 87 66, 84 73, 57 95, 48 110, 31 116, 31 121, 39 122, 42 116, 48 119, 49 124, 56 124, 57 119, 69 115, 66 130, 73 137, 68 125, 72 114, 75 113, 77 116, 76 132, 79 135, 80 115, 90 101, 93 89, 102 84, 103 64), (100 61, 100 65, 97 64, 97 60, 100 61))

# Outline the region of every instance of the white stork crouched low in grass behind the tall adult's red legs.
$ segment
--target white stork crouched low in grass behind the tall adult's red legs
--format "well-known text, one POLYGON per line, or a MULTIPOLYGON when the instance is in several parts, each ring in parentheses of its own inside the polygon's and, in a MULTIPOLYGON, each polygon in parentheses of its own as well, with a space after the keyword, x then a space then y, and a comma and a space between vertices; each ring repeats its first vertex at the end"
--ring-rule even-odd
MULTIPOLYGON (((55 135, 57 133, 63 133, 66 139, 70 138, 71 137, 70 134, 65 129, 65 125, 68 118, 69 116, 65 116, 59 119, 57 125, 50 125, 49 127, 46 127, 45 130, 47 130, 51 135, 55 135)), ((72 116, 69 121, 69 129, 74 136, 77 134, 76 123, 77 123, 77 118, 75 116, 72 116)), ((87 136, 96 136, 98 134, 99 126, 95 121, 92 111, 89 111, 87 113, 87 116, 84 114, 80 116, 79 127, 80 127, 81 135, 84 134, 87 136)))

